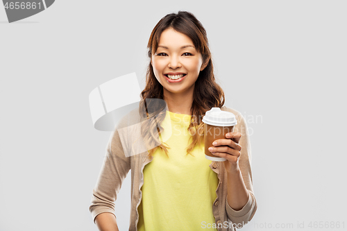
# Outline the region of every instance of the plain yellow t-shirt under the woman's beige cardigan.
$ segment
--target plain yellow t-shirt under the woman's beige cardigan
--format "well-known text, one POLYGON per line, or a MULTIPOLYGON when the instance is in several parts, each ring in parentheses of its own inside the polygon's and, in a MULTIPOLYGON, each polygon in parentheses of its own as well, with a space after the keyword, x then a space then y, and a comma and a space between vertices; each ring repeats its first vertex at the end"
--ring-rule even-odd
POLYGON ((138 207, 139 231, 216 230, 203 228, 215 223, 212 204, 217 198, 217 173, 198 145, 187 155, 191 116, 167 111, 160 140, 170 147, 168 155, 157 148, 153 160, 144 166, 142 201, 138 207), (171 121, 171 123, 170 123, 171 121), (170 136, 171 134, 171 136, 170 136), (169 137, 169 139, 165 139, 169 137))

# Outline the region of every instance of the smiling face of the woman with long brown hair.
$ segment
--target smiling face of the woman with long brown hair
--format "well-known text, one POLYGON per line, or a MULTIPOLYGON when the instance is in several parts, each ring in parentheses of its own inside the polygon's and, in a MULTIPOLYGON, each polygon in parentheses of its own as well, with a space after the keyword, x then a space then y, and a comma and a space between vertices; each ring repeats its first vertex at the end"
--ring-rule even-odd
POLYGON ((194 92, 198 74, 207 66, 202 66, 202 55, 196 51, 192 40, 173 28, 167 28, 160 35, 158 49, 153 53, 151 62, 155 78, 164 88, 164 94, 165 91, 194 92), (170 80, 169 77, 180 79, 170 80))

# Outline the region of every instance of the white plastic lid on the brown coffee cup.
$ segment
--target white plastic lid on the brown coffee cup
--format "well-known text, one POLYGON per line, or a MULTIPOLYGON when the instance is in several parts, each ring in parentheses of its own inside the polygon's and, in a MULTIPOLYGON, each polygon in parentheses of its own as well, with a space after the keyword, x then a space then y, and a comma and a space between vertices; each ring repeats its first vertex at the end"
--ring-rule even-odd
POLYGON ((237 125, 235 114, 222 111, 220 108, 212 108, 206 112, 203 117, 203 122, 212 126, 228 127, 237 125))

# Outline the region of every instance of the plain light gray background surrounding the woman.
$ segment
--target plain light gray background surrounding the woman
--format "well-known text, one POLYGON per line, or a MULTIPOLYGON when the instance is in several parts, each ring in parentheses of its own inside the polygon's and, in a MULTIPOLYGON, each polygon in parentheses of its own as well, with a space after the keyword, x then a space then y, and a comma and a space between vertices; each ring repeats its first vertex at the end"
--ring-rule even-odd
MULTIPOLYGON (((258 209, 243 230, 346 230, 346 7, 60 0, 8 24, 1 6, 0 230, 97 230, 88 207, 110 132, 93 128, 88 95, 134 71, 143 89, 149 35, 178 10, 205 26, 225 105, 252 131, 258 209)), ((128 230, 130 177, 116 208, 128 230)))

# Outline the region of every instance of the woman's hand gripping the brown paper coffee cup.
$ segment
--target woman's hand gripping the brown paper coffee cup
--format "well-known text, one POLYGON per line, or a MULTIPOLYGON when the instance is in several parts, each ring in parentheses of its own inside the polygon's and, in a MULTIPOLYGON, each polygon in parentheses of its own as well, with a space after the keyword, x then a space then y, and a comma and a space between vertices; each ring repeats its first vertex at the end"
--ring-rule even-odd
POLYGON ((232 173, 239 170, 239 156, 241 155, 241 146, 239 145, 239 139, 241 138, 240 132, 228 132, 226 133, 227 139, 217 139, 213 142, 213 150, 208 150, 218 157, 226 159, 224 166, 228 173, 232 173), (214 144, 214 143, 217 144, 214 144))

